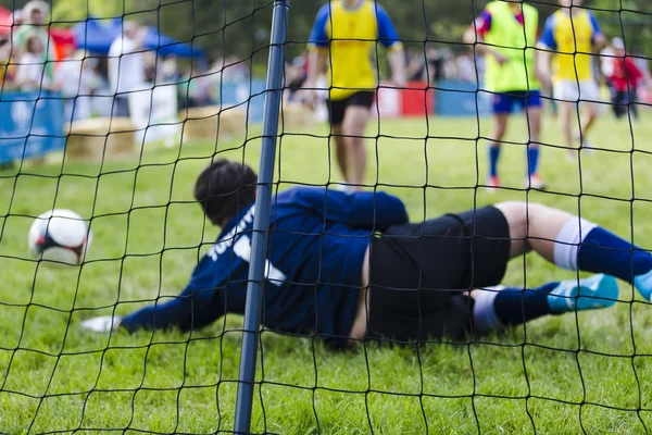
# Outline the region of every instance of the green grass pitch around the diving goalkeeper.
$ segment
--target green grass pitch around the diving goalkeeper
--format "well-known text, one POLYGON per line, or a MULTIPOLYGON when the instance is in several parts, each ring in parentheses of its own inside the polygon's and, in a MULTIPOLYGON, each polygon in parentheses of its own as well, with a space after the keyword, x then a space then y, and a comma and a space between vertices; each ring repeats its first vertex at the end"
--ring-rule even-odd
MULTIPOLYGON (((488 120, 383 121, 380 130, 368 129, 367 181, 401 197, 413 221, 527 199, 581 213, 652 249, 650 121, 645 114, 630 127, 605 117, 592 136, 602 150, 582 151, 579 163, 547 147, 541 174, 548 192, 522 189, 525 150, 507 146, 501 162, 507 189, 494 195, 477 187, 486 156, 476 139, 489 135, 488 120)), ((511 140, 526 140, 523 124, 513 124, 511 140)), ((277 153, 281 189, 340 181, 328 164, 325 126, 286 133, 277 153)), ((543 140, 561 144, 551 120, 543 140)), ((258 167, 260 139, 153 147, 133 161, 0 173, 0 433, 233 430, 241 318, 191 335, 109 337, 80 328, 85 319, 125 314, 185 286, 218 233, 191 201, 195 177, 215 150, 258 167), (84 266, 30 260, 32 216, 52 207, 92 216, 84 266)), ((529 256, 512 262, 505 283, 573 276, 529 256)), ((645 433, 652 428, 652 307, 627 284, 620 288, 613 309, 541 319, 459 345, 334 353, 309 338, 265 332, 253 430, 645 433)))

